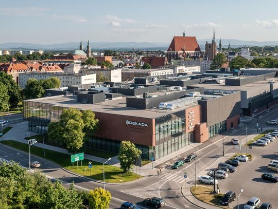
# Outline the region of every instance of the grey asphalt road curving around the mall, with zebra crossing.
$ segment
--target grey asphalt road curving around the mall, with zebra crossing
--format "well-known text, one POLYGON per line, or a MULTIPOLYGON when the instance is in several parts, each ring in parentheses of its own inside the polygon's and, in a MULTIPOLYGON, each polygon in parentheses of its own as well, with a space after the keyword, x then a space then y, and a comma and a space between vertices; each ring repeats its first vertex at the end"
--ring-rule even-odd
MULTIPOLYGON (((264 112, 259 116, 259 126, 266 127, 265 123, 267 120, 273 120, 278 117, 277 107, 272 108, 269 112, 264 112)), ((11 119, 10 119, 11 120, 11 119)), ((224 151, 225 153, 235 152, 234 146, 230 145, 230 141, 233 137, 237 137, 240 140, 244 140, 246 135, 246 125, 248 127, 247 134, 256 131, 256 118, 245 124, 241 124, 241 127, 236 128, 234 131, 230 131, 230 135, 227 136, 224 133, 224 151)), ((276 127, 276 126, 273 126, 276 127)), ((275 128, 274 128, 275 129, 275 128)), ((193 144, 194 145, 194 144, 193 144)), ((200 175, 201 172, 207 167, 215 162, 219 157, 222 156, 222 136, 217 136, 214 139, 208 140, 207 142, 201 145, 203 149, 199 150, 197 148, 197 175, 200 175)), ((162 170, 161 176, 151 176, 146 177, 135 182, 127 184, 106 184, 106 188, 112 194, 112 201, 110 208, 118 208, 120 204, 124 201, 129 201, 136 203, 137 205, 143 206, 142 201, 147 197, 162 197, 165 199, 166 206, 164 208, 199 208, 195 205, 189 203, 181 194, 181 186, 184 184, 185 180, 183 178, 184 173, 186 172, 188 176, 187 183, 195 183, 195 163, 185 163, 183 167, 179 169, 172 170, 170 169, 170 164, 175 162, 177 159, 181 159, 188 155, 189 153, 194 153, 194 148, 189 150, 183 155, 177 156, 170 161, 167 161, 157 167, 164 167, 162 170)), ((7 160, 14 160, 16 162, 20 161, 21 165, 28 165, 28 154, 22 153, 21 151, 14 150, 9 147, 4 147, 0 145, 0 157, 7 160)), ((102 183, 93 182, 84 178, 80 178, 74 174, 68 173, 65 170, 62 170, 57 165, 37 157, 32 157, 32 160, 38 160, 42 163, 40 168, 42 172, 46 175, 59 178, 64 182, 71 183, 72 181, 79 187, 86 189, 93 189, 96 186, 102 187, 102 183)), ((248 193, 242 194, 240 196, 241 200, 245 200, 248 196, 248 193), (246 196, 245 196, 246 195, 246 196)))

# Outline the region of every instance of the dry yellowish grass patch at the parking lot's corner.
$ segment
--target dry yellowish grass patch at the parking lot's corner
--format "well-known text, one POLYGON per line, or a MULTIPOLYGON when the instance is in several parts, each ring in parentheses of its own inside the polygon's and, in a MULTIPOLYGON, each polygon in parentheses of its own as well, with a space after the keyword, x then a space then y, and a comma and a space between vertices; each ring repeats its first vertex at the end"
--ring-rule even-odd
POLYGON ((192 186, 190 188, 190 192, 198 200, 205 202, 207 204, 215 205, 221 208, 231 208, 228 206, 220 205, 219 202, 221 198, 215 197, 214 194, 211 194, 213 192, 213 186, 196 186, 196 187, 192 186))

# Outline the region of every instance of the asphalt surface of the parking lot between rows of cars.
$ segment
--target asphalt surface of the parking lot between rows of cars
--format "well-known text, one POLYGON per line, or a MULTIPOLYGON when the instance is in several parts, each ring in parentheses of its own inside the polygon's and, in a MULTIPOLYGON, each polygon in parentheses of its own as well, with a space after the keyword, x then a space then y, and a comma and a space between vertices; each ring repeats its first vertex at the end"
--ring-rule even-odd
MULTIPOLYGON (((274 128, 275 129, 275 128, 274 128)), ((254 137, 256 136, 248 136, 254 137)), ((239 136, 238 139, 245 144, 245 136, 239 136)), ((228 145, 228 144, 227 144, 228 145)), ((210 167, 203 170, 202 175, 211 169, 217 167, 219 162, 225 162, 233 154, 238 153, 239 149, 235 148, 237 146, 230 143, 230 148, 225 157, 219 157, 210 167)), ((245 152, 245 147, 242 147, 242 152, 245 152)), ((245 203, 251 197, 258 197, 260 202, 270 202, 272 208, 278 208, 278 183, 273 183, 271 181, 262 180, 261 176, 263 173, 271 173, 278 176, 278 172, 269 171, 267 169, 268 163, 272 159, 278 158, 278 138, 273 142, 270 142, 267 146, 253 146, 252 149, 248 148, 248 153, 254 156, 252 161, 240 162, 237 166, 237 171, 235 173, 230 173, 227 179, 218 179, 218 184, 220 187, 220 193, 225 193, 229 190, 234 191, 236 196, 240 193, 240 189, 243 189, 242 194, 239 197, 239 208, 244 208, 245 203)), ((237 201, 233 201, 230 207, 237 208, 237 201)))

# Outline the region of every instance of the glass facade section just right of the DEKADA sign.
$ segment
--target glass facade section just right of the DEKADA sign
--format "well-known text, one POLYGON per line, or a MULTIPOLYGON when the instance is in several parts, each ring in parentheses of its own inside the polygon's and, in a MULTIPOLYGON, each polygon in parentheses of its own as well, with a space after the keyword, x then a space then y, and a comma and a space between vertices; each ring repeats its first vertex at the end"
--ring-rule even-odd
POLYGON ((155 119, 154 159, 162 158, 195 141, 195 131, 185 132, 185 110, 155 119))

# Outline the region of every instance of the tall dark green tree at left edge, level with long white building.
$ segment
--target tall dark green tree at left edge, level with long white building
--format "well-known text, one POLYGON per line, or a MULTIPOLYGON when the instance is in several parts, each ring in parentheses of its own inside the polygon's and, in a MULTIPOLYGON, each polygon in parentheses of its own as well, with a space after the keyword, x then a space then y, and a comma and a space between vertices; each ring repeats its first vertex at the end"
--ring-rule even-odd
POLYGON ((5 72, 0 72, 0 83, 8 89, 10 106, 16 107, 21 100, 20 87, 12 79, 12 75, 8 75, 5 72))

